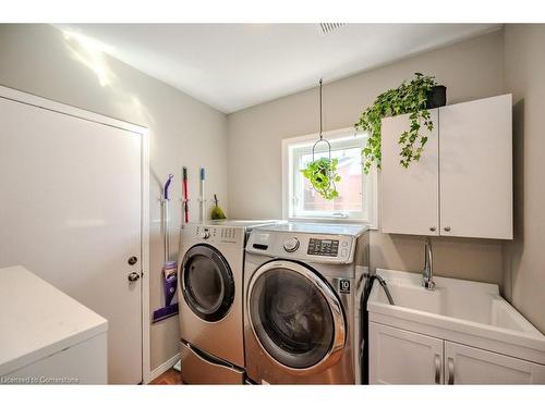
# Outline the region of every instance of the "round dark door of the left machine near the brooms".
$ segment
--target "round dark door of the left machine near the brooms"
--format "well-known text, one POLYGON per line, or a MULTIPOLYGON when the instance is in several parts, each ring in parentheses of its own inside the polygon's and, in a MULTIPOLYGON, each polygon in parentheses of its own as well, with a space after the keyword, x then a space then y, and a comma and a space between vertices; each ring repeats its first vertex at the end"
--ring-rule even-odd
POLYGON ((214 247, 190 248, 180 267, 183 297, 190 309, 208 322, 221 320, 234 298, 234 280, 229 263, 214 247))

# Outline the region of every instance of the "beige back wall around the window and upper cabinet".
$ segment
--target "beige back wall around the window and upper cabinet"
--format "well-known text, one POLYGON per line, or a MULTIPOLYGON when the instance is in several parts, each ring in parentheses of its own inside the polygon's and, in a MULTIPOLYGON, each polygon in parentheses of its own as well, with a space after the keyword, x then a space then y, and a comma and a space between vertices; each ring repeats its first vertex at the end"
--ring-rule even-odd
MULTIPOLYGON (((382 91, 414 72, 435 75, 455 103, 504 92, 502 33, 495 32, 324 86, 326 131, 352 126, 382 91)), ((316 78, 317 81, 318 78, 316 78)), ((280 218, 281 140, 318 131, 318 94, 311 89, 228 115, 229 207, 235 218, 280 218)), ((373 267, 419 271, 423 238, 372 234, 373 267)), ((501 281, 501 242, 435 238, 440 275, 501 281)))

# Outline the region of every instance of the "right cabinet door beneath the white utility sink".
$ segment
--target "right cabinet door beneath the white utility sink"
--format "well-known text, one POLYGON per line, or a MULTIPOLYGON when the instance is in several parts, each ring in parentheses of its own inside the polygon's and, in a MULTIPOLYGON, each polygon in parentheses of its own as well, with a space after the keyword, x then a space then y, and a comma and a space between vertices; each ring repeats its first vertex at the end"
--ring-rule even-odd
POLYGON ((545 384, 545 366, 445 342, 447 384, 545 384))

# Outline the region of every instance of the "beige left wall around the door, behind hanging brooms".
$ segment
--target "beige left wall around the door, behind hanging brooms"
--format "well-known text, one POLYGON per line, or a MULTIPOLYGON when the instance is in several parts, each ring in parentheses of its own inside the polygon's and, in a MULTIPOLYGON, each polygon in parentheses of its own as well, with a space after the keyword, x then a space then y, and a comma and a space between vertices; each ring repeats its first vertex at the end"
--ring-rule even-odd
MULTIPOLYGON (((48 25, 0 25, 0 84, 150 128, 150 307, 162 306, 161 184, 173 173, 172 252, 178 252, 181 166, 190 170, 197 220, 198 168, 227 207, 226 116, 48 25)), ((178 353, 178 319, 152 326, 152 369, 178 353)))

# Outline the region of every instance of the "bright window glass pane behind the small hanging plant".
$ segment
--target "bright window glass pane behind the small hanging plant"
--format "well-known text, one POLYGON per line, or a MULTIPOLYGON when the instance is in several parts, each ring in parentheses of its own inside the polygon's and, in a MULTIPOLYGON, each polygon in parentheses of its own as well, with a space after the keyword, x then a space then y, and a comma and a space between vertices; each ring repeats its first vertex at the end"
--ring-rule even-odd
MULTIPOLYGON (((328 157, 327 152, 315 153, 314 158, 319 159, 328 157)), ((311 185, 311 182, 305 178, 301 172, 300 177, 303 183, 303 197, 301 210, 303 211, 328 211, 328 212, 344 212, 344 211, 363 211, 363 180, 362 180, 362 159, 361 148, 353 147, 347 149, 331 150, 331 158, 337 158, 337 173, 341 181, 336 184, 339 197, 332 200, 323 198, 311 185)), ((312 153, 301 156, 301 168, 305 169, 312 161, 312 153)))

